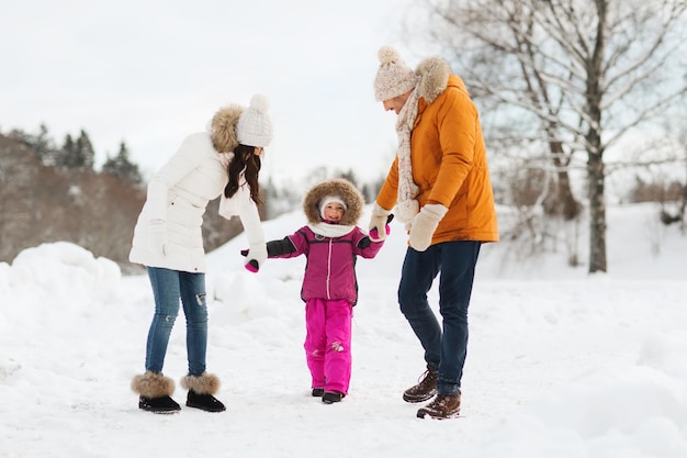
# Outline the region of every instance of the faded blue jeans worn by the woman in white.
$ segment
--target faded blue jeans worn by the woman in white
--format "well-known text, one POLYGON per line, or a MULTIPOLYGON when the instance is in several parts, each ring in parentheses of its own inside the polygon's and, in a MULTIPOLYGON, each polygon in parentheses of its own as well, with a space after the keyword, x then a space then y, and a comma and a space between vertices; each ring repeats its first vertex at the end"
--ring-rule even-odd
POLYGON ((155 295, 155 315, 146 345, 146 370, 161 372, 167 344, 179 314, 179 299, 187 317, 187 355, 189 375, 205 371, 207 349, 207 306, 205 302, 205 273, 148 267, 148 277, 155 295))

